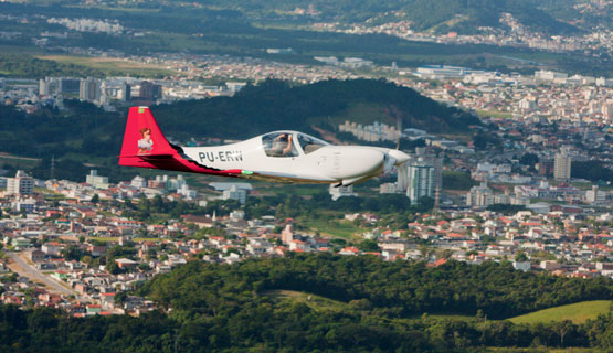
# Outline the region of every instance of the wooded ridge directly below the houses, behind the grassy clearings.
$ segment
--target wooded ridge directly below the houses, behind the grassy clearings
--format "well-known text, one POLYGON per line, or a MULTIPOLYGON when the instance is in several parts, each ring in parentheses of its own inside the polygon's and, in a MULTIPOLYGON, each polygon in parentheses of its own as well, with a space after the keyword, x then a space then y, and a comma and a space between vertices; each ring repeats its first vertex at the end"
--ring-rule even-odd
POLYGON ((142 292, 166 308, 199 308, 213 314, 232 309, 215 307, 218 302, 205 293, 232 292, 235 296, 228 295, 228 299, 240 306, 251 300, 251 293, 271 289, 308 291, 346 302, 366 300, 373 310, 397 318, 482 310, 490 319, 506 319, 564 303, 613 298, 613 280, 605 278, 538 276, 517 271, 510 264, 452 261, 429 268, 423 263, 331 255, 253 260, 232 267, 192 263, 158 276, 142 292))

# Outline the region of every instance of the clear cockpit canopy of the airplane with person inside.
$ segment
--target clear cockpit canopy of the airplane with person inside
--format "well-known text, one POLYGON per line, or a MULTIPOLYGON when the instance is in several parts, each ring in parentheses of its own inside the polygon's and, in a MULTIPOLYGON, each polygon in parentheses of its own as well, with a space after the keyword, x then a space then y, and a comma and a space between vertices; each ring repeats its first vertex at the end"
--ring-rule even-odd
POLYGON ((303 132, 275 131, 264 135, 262 145, 268 157, 298 157, 330 143, 303 132))

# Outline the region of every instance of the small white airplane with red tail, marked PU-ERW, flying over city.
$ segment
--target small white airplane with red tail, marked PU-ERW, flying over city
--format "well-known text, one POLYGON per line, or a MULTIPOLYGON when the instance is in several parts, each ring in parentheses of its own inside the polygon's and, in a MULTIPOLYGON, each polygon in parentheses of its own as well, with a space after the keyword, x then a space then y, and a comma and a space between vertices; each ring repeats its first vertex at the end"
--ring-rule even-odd
POLYGON ((168 142, 148 107, 131 107, 119 165, 340 186, 367 181, 409 159, 398 149, 334 146, 297 131, 225 146, 180 147, 168 142))

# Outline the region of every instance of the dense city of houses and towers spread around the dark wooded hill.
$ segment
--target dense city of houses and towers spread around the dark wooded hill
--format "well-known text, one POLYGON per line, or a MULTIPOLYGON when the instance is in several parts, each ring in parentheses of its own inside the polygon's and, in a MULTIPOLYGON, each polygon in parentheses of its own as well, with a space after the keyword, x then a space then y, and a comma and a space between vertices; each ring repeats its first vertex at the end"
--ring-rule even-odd
MULTIPOLYGON (((358 77, 342 65, 201 60, 205 65, 193 58, 158 58, 159 64, 191 76, 222 77, 226 83, 203 86, 187 78, 4 78, 4 104, 34 113, 45 105, 61 108, 66 97, 78 97, 115 109, 117 105, 231 96, 244 87, 244 82, 272 75, 300 83, 358 77)), ((448 259, 473 264, 510 260, 524 271, 611 277, 611 172, 593 175, 572 165, 611 168, 613 79, 545 71, 512 76, 431 65, 398 72, 392 81, 438 101, 485 111, 483 121, 496 127, 494 135, 455 141, 415 128, 399 133, 395 126, 347 120, 337 132, 351 133, 357 141, 395 141, 401 135, 420 141, 421 147, 408 163, 406 176, 389 175, 388 180, 398 180, 360 192, 352 186, 331 186, 329 203, 339 197, 400 192, 413 205, 423 197, 436 199, 435 210, 418 213, 404 223, 395 220, 393 225, 385 223, 389 216, 384 212, 346 213, 338 222, 351 224, 352 233, 338 238, 334 232, 313 233, 289 217, 245 217, 247 199, 262 197, 258 188, 250 183, 213 182, 200 193, 182 175, 136 176, 112 184, 95 170, 83 175, 85 182, 34 180, 20 171, 1 179, 6 189, 6 211, 0 221, 8 264, 4 278, 11 279, 2 293, 3 302, 55 306, 75 315, 139 313, 155 306, 125 292, 189 259, 231 264, 287 252, 368 253, 385 260, 423 259, 429 266, 448 259), (478 145, 490 139, 495 143, 488 146, 495 149, 484 152, 478 145), (591 164, 593 161, 604 164, 591 164), (454 173, 469 175, 468 188, 464 188, 469 190, 444 185, 443 175, 454 173), (237 202, 229 205, 224 215, 203 213, 208 203, 218 200, 237 202), (168 203, 188 203, 200 207, 201 214, 175 213, 163 222, 135 217, 133 208, 137 206, 166 213, 163 205, 168 203)))

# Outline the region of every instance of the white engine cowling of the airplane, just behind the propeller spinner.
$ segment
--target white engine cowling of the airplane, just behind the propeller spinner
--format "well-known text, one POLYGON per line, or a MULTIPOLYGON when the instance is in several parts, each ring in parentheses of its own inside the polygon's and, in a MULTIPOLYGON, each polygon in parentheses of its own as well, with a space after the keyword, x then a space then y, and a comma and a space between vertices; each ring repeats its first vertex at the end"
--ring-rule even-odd
POLYGON ((346 147, 334 153, 334 176, 340 179, 371 175, 382 171, 384 153, 376 149, 346 147))

